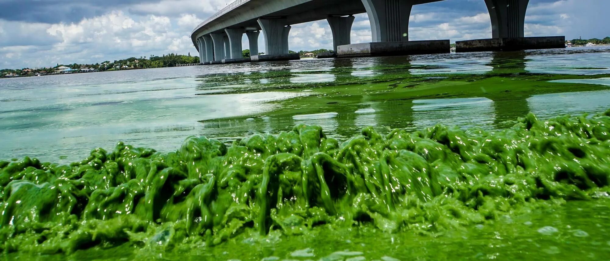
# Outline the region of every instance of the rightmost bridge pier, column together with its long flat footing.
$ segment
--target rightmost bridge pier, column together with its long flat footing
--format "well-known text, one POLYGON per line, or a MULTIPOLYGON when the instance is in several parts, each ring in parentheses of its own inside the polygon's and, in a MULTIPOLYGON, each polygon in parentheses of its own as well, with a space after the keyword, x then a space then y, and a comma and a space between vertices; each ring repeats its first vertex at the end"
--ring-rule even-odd
POLYGON ((485 0, 492 38, 456 41, 456 52, 565 48, 565 37, 524 37, 529 0, 485 0))

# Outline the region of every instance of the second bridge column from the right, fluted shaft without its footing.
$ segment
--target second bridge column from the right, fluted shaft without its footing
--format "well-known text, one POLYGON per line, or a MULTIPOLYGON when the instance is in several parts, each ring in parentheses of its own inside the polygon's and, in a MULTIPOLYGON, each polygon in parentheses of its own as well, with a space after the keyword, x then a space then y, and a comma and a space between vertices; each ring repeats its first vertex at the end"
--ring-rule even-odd
POLYGON ((408 41, 409 15, 413 5, 406 0, 362 0, 371 23, 373 42, 408 41))

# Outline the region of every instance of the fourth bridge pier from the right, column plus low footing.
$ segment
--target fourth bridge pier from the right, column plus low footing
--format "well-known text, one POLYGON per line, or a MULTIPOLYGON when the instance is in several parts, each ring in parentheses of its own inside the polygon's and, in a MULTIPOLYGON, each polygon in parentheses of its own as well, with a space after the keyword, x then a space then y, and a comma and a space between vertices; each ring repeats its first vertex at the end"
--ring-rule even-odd
POLYGON ((251 55, 253 62, 300 59, 299 54, 288 53, 288 35, 292 27, 287 25, 286 18, 260 18, 257 22, 265 37, 265 54, 251 55))

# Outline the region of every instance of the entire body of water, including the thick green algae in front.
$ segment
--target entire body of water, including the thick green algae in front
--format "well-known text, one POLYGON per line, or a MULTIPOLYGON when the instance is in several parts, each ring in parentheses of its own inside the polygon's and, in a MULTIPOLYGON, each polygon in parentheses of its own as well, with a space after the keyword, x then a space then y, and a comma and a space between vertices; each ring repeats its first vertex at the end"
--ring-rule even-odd
POLYGON ((415 55, 2 82, 5 159, 61 164, 108 149, 71 166, 3 162, 2 249, 74 260, 604 259, 608 116, 544 120, 608 109, 609 56, 415 55), (542 120, 514 126, 529 112, 542 120), (321 128, 293 129, 302 123, 321 128), (182 143, 188 135, 220 141, 182 143), (112 150, 117 140, 162 152, 112 150))

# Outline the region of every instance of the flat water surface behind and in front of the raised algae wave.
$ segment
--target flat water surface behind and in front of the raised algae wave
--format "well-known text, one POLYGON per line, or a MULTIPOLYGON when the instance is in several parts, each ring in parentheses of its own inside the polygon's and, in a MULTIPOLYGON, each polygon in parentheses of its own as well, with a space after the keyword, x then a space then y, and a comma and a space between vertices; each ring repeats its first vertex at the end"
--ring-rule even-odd
MULTIPOLYGON (((608 46, 0 79, 0 159, 31 156, 67 163, 118 141, 175 151, 189 135, 231 143, 254 132, 288 131, 298 123, 320 125, 339 140, 364 126, 379 132, 436 123, 502 129, 528 112, 550 118, 605 111, 609 86, 608 46)), ((610 256, 608 206, 603 200, 569 202, 442 235, 374 229, 314 229, 290 238, 241 235, 192 255, 304 260, 356 251, 362 254, 343 259, 602 259, 610 256), (557 232, 547 228, 540 233, 544 227, 557 232)), ((115 257, 91 251, 73 258, 115 257)), ((181 259, 151 255, 146 257, 181 259)))

